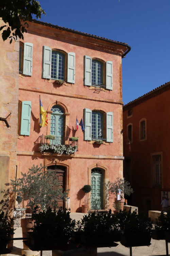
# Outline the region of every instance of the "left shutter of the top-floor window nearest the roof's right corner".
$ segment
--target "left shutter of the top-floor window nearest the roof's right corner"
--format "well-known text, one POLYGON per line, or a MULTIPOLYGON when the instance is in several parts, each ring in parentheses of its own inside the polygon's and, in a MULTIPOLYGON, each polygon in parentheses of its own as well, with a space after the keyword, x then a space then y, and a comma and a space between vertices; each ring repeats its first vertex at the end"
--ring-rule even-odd
POLYGON ((84 85, 91 86, 91 63, 92 58, 84 56, 84 85))

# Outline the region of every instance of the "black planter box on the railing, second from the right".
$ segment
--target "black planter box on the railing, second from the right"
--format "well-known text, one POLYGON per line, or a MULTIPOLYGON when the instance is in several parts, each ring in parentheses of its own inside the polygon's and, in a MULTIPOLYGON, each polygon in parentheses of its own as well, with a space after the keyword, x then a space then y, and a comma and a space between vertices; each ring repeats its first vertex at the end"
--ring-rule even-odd
POLYGON ((125 237, 121 236, 121 244, 125 247, 147 246, 150 245, 150 237, 125 237))

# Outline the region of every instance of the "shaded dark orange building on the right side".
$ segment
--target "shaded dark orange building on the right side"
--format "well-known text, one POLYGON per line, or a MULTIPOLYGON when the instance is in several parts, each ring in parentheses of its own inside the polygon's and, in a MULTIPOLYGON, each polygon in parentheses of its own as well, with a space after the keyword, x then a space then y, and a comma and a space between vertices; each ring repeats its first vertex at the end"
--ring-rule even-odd
POLYGON ((170 198, 169 98, 170 82, 123 106, 123 174, 134 189, 128 204, 146 213, 170 198))

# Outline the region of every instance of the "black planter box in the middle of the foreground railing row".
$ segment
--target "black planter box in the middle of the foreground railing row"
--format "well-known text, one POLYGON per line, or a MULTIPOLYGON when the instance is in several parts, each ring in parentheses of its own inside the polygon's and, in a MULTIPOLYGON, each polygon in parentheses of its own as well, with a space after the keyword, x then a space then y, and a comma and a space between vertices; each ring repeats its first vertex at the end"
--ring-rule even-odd
POLYGON ((81 243, 83 245, 108 245, 111 246, 114 243, 113 237, 84 237, 81 236, 81 243))

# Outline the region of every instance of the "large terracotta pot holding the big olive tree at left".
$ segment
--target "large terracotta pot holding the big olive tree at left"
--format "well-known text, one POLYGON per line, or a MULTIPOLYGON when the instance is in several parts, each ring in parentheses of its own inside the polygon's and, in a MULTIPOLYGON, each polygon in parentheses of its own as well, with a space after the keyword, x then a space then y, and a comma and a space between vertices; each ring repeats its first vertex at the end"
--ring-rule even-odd
MULTIPOLYGON (((27 232, 32 232, 33 223, 31 219, 21 219, 22 237, 27 237, 27 232), (30 223, 31 222, 31 223, 30 223)), ((27 241, 27 240, 25 240, 27 241)), ((37 251, 31 251, 28 246, 23 243, 22 255, 36 256, 39 254, 37 251)))

